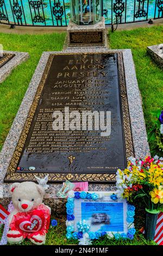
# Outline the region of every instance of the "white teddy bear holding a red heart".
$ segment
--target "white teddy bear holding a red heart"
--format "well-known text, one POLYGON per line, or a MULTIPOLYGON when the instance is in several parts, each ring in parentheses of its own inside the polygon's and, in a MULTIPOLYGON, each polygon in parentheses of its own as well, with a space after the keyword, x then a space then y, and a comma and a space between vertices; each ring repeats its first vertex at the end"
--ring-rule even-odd
POLYGON ((14 183, 10 187, 14 210, 9 215, 9 243, 21 243, 28 238, 35 245, 46 241, 51 208, 42 203, 45 190, 35 182, 14 183))

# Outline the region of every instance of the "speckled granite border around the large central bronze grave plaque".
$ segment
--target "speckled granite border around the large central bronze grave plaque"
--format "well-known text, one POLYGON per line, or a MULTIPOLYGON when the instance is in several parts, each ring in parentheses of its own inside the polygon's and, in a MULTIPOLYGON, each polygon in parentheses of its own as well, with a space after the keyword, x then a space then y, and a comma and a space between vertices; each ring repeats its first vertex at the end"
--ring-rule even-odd
MULTIPOLYGON (((39 64, 35 70, 32 81, 29 84, 26 94, 24 95, 21 106, 17 112, 14 123, 11 126, 10 132, 5 140, 0 154, 0 203, 3 205, 9 202, 9 185, 4 184, 3 179, 7 172, 12 154, 16 148, 18 139, 21 135, 24 123, 26 121, 30 106, 32 105, 37 87, 41 81, 43 71, 45 70, 48 57, 51 53, 74 53, 74 52, 117 52, 123 54, 124 71, 126 77, 126 88, 128 96, 131 132, 133 136, 133 144, 135 156, 145 157, 149 155, 149 145, 147 142, 147 133, 145 120, 142 111, 142 101, 139 87, 136 80, 135 67, 131 50, 108 50, 106 47, 67 47, 62 52, 43 52, 39 64)), ((54 211, 64 211, 64 203, 62 199, 57 198, 57 192, 61 188, 61 184, 50 184, 45 196, 46 204, 50 205, 54 211), (61 207, 59 207, 61 205, 61 207)), ((89 191, 110 191, 115 190, 115 185, 111 184, 89 184, 89 191)))

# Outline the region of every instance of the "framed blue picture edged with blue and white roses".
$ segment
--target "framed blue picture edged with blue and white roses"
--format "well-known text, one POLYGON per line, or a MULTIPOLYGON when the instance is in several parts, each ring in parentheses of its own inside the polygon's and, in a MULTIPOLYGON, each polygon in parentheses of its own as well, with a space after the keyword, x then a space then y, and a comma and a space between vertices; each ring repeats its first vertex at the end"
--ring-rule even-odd
POLYGON ((81 223, 87 223, 90 239, 110 235, 116 239, 134 239, 135 206, 127 200, 118 199, 116 191, 110 192, 73 192, 67 199, 67 234, 68 239, 80 239, 81 223), (79 224, 80 223, 80 224, 79 224))

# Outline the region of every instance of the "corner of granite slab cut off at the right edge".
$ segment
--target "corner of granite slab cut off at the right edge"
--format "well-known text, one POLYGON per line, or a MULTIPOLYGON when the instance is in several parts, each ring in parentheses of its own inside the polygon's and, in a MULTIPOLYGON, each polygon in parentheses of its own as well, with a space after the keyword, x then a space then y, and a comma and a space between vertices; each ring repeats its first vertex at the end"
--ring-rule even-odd
POLYGON ((148 46, 147 54, 163 70, 163 44, 148 46))

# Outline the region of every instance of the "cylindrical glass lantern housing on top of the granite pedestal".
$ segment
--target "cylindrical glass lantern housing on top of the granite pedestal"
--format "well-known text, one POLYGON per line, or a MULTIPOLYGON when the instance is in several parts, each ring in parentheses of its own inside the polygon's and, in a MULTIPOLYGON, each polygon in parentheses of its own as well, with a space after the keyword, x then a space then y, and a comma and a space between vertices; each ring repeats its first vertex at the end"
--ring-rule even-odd
POLYGON ((70 0, 71 21, 77 25, 94 25, 102 19, 102 0, 70 0))

